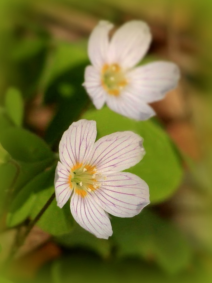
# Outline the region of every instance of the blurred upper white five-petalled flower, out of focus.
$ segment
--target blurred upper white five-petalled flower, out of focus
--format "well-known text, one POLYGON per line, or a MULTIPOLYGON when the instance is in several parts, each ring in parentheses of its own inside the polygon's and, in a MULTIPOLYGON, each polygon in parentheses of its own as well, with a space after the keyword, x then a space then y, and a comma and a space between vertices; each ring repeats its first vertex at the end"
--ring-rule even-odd
POLYGON ((85 69, 83 85, 97 109, 106 103, 123 116, 146 120, 155 115, 148 103, 176 87, 179 69, 165 61, 133 68, 149 48, 148 25, 139 20, 127 22, 109 41, 112 28, 108 21, 100 21, 93 29, 88 42, 92 66, 85 69))

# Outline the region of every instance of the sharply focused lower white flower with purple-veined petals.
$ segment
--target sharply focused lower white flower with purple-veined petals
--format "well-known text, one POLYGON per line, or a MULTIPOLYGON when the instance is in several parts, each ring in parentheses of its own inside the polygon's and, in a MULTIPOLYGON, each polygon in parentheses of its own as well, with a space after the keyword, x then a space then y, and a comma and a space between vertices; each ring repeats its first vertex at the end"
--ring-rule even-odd
POLYGON ((148 185, 132 173, 120 172, 145 154, 143 139, 126 131, 95 142, 96 122, 79 120, 64 132, 55 174, 57 205, 71 197, 76 222, 98 238, 112 235, 108 213, 133 217, 149 204, 148 185))

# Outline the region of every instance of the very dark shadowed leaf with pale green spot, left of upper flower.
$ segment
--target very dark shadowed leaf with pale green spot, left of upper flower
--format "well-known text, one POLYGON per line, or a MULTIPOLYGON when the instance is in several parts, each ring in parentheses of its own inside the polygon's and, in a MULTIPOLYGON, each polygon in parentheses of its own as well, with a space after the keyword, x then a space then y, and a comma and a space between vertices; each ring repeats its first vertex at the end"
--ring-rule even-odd
POLYGON ((46 141, 51 145, 60 140, 63 132, 73 121, 79 119, 89 103, 88 95, 82 87, 85 66, 83 63, 68 70, 47 90, 47 95, 51 95, 51 99, 55 97, 58 100, 57 114, 46 132, 46 141))

